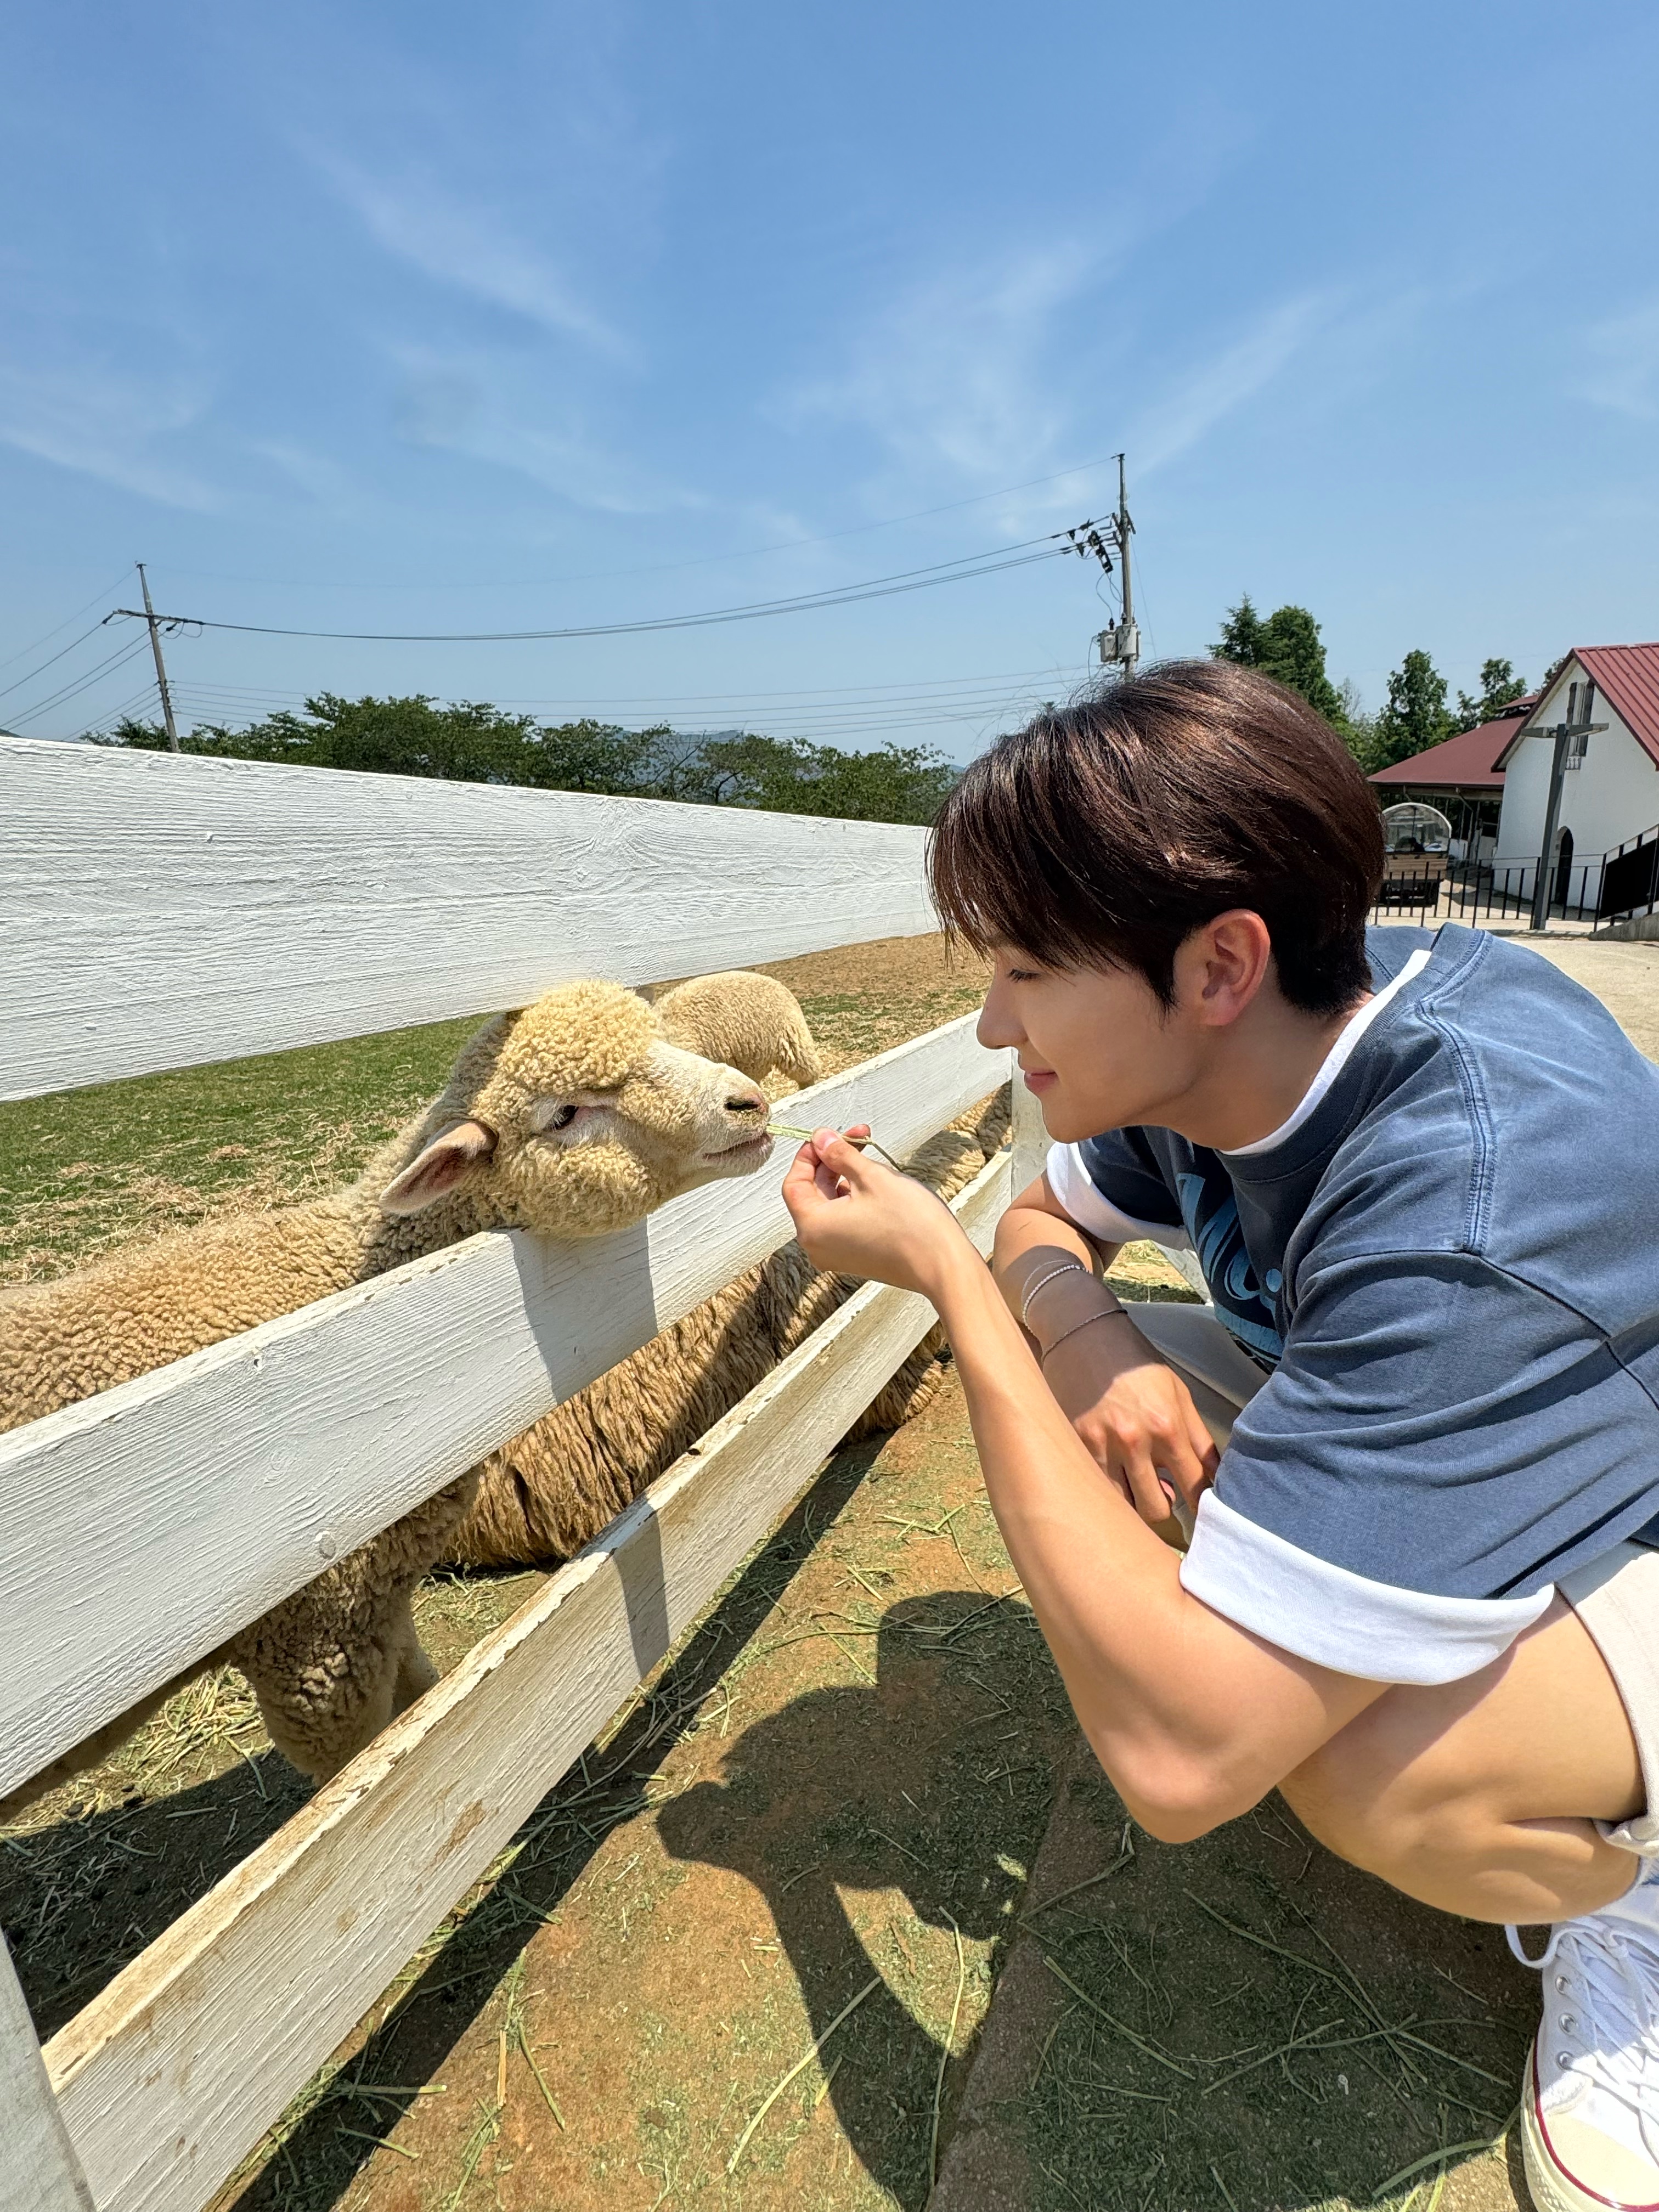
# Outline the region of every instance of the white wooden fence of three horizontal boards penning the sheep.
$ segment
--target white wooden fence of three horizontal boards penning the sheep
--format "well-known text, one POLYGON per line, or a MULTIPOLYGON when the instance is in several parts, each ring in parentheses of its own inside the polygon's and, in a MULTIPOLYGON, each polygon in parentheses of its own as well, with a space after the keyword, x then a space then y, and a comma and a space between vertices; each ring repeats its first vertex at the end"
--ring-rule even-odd
MULTIPOLYGON (((0 739, 0 1097, 933 927, 922 832, 0 739)), ((891 1150, 971 1018, 790 1117, 891 1150)), ((91 1102, 88 1102, 91 1108, 91 1102)), ((956 1210, 984 1248, 993 1159, 956 1210)), ((484 1234, 0 1436, 0 1794, 790 1237, 779 1175, 484 1234)), ((0 2212, 199 2212, 931 1325, 869 1285, 44 2048, 0 2212)))

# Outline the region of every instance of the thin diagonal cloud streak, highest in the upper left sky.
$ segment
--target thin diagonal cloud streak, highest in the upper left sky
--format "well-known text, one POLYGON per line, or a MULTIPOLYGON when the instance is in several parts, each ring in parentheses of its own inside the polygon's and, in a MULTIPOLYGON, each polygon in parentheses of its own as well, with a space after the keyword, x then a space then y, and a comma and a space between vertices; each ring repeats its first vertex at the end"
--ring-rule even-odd
POLYGON ((372 175, 319 144, 307 144, 305 153, 389 254, 436 283, 522 314, 597 354, 617 361, 630 354, 619 332, 575 292, 546 254, 515 237, 504 217, 462 201, 431 175, 372 175))

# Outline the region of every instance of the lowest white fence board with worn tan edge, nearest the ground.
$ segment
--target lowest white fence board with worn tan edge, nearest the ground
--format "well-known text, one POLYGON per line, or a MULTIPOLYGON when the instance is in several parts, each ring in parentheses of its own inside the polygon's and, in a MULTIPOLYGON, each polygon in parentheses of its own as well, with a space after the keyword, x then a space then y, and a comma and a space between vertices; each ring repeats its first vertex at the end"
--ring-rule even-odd
MULTIPOLYGON (((980 1250, 998 1155, 956 1199, 980 1250)), ((927 1334, 867 1285, 46 2046, 106 2212, 197 2212, 927 1334)))

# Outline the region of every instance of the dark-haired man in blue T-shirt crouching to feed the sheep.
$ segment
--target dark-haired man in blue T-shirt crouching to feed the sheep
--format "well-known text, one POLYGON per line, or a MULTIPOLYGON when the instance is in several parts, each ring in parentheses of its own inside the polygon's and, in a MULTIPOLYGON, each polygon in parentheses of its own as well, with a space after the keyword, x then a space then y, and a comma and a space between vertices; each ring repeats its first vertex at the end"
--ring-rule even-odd
POLYGON ((1365 779, 1225 661, 1000 739, 931 869, 1046 1175, 987 1270, 823 1130, 803 1245, 938 1307, 1135 1818, 1181 1843, 1279 1787, 1427 1905, 1555 1922, 1533 2194, 1659 2205, 1659 1071, 1517 945, 1367 931, 1365 779), (1099 1281, 1137 1237, 1203 1270, 1181 1365, 1237 1407, 1221 1453, 1099 1281))

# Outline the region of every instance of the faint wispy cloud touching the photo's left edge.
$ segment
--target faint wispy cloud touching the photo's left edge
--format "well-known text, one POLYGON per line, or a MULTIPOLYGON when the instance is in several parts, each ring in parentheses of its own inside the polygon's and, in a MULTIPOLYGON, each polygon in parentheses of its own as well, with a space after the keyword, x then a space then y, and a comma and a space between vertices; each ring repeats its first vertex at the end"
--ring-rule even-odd
POLYGON ((204 392, 186 378, 144 383, 91 361, 0 361, 0 442, 166 507, 219 504, 210 484, 157 451, 204 411, 204 392))

